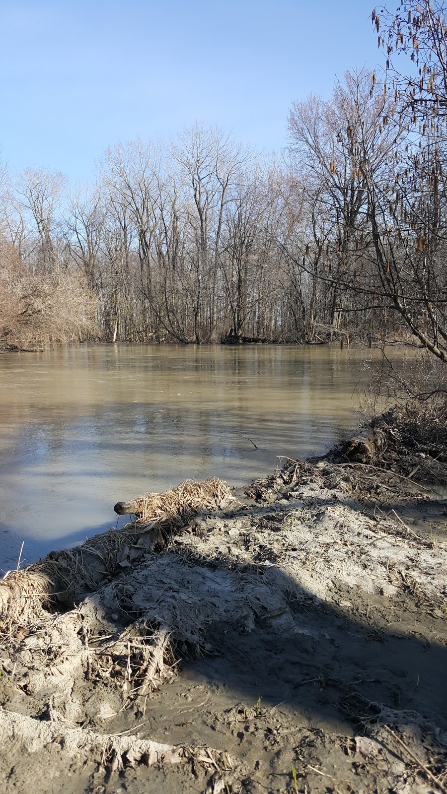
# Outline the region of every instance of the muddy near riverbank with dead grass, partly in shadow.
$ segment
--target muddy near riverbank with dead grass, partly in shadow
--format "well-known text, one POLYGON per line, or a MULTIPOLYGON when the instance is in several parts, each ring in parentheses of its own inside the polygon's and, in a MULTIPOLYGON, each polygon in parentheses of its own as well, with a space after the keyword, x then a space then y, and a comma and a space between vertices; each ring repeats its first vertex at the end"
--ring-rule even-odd
POLYGON ((445 449, 404 419, 6 576, 6 792, 445 790, 445 449))

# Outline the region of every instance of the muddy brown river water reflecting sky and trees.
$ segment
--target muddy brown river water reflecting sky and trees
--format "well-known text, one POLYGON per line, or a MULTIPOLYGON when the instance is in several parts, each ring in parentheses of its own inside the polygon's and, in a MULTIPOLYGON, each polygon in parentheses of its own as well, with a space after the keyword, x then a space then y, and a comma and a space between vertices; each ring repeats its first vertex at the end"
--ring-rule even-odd
POLYGON ((356 426, 363 357, 273 345, 3 354, 0 569, 22 541, 29 562, 107 529, 117 501, 188 477, 243 484, 278 455, 325 452, 356 426))

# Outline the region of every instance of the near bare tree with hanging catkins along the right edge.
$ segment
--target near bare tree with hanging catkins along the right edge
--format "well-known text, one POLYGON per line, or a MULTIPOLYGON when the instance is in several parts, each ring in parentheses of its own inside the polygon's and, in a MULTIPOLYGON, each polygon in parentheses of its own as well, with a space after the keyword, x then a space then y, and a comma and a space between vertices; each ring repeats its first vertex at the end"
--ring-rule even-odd
MULTIPOLYGON (((418 345, 447 362, 447 17, 439 0, 403 2, 398 13, 373 11, 379 47, 386 48, 383 93, 394 90, 406 133, 387 175, 377 178, 363 147, 368 223, 381 294, 418 345), (406 71, 398 64, 402 54, 406 71)), ((384 129, 379 129, 381 137, 384 129)), ((396 133, 397 134, 397 133, 396 133)))

